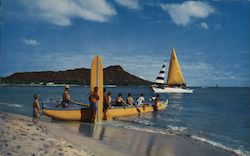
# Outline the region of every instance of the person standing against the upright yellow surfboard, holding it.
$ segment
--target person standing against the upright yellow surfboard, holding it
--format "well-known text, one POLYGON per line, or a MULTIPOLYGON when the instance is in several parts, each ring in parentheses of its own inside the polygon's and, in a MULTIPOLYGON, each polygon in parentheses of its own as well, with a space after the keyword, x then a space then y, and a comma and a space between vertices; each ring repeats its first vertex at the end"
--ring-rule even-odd
POLYGON ((95 87, 94 92, 90 92, 89 95, 90 108, 92 109, 92 122, 95 122, 98 100, 99 100, 98 87, 95 87))

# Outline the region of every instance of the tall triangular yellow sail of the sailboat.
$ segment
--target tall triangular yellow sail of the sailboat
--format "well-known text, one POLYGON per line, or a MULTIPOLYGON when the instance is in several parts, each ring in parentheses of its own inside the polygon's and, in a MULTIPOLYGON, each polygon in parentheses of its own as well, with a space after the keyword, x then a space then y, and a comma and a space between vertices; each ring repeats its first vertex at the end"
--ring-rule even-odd
POLYGON ((186 85, 186 81, 182 75, 181 68, 175 53, 174 48, 172 48, 169 69, 168 69, 168 86, 182 86, 186 85))

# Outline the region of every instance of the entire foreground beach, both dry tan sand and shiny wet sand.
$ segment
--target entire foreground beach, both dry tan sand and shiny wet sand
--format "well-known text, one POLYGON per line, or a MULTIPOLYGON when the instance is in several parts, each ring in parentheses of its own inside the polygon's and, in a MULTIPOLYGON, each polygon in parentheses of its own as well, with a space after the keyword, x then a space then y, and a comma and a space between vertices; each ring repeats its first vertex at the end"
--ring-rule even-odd
POLYGON ((0 113, 2 155, 234 155, 189 137, 0 113))

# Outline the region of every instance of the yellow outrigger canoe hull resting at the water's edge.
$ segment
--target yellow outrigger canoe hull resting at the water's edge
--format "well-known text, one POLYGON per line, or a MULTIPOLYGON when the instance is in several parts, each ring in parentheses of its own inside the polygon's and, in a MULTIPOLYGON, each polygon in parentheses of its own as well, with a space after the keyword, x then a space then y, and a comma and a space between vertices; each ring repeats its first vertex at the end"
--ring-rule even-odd
MULTIPOLYGON (((161 102, 157 110, 163 110, 167 107, 168 101, 161 102)), ((82 121, 82 122, 91 122, 92 119, 92 110, 88 107, 83 108, 42 108, 43 113, 56 120, 64 121, 82 121)), ((125 116, 134 116, 140 115, 143 113, 149 113, 156 111, 153 106, 143 105, 140 107, 112 107, 107 111, 106 119, 104 114, 102 116, 103 120, 112 120, 119 117, 125 116)))

